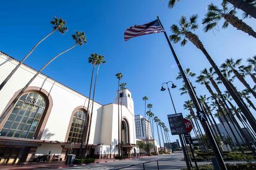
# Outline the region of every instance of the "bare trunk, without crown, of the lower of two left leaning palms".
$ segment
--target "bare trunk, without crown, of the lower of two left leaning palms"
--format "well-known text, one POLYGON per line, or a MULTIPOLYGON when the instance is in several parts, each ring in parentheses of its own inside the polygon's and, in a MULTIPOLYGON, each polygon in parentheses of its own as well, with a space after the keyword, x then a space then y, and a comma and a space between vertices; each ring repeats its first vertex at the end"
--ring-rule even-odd
POLYGON ((6 110, 4 111, 4 113, 2 113, 1 117, 0 117, 0 123, 2 122, 2 120, 6 117, 6 115, 9 113, 9 111, 11 111, 11 109, 14 107, 15 103, 20 99, 20 97, 22 96, 23 92, 25 92, 25 90, 27 89, 27 87, 32 83, 32 81, 36 78, 36 76, 38 76, 43 70, 45 70, 45 68, 54 60, 56 60, 59 56, 61 56, 62 54, 65 54, 66 52, 70 51, 71 49, 73 49, 75 46, 77 46, 77 44, 75 44, 74 46, 70 47, 69 49, 67 49, 66 51, 61 52, 60 54, 56 55, 55 57, 53 57, 53 59, 49 60, 48 63, 46 63, 39 71, 37 71, 37 73, 33 76, 32 79, 30 79, 30 81, 28 81, 28 83, 23 87, 23 89, 19 92, 19 94, 15 97, 14 100, 12 100, 11 104, 6 108, 6 110))

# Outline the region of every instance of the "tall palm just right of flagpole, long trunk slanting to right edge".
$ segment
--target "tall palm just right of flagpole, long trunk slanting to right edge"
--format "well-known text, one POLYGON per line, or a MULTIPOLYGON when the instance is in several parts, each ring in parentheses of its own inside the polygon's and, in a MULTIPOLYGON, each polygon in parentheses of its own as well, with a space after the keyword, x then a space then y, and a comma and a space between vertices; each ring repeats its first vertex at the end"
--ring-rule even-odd
POLYGON ((181 41, 182 37, 184 39, 181 41, 181 46, 184 46, 187 43, 187 39, 191 41, 200 51, 203 52, 207 60, 210 62, 211 67, 215 70, 216 74, 219 76, 221 81, 223 82, 226 89, 229 91, 231 96, 233 97, 234 101, 237 103, 238 107, 241 108, 242 113, 247 117, 247 119, 250 119, 250 124, 252 127, 254 127, 254 130, 256 131, 256 120, 253 118, 253 116, 250 114, 250 111, 247 110, 247 108, 244 106, 244 103, 241 102, 239 99, 239 96, 236 95, 233 88, 231 87, 231 84, 227 81, 226 78, 222 75, 220 69, 217 67, 216 63, 213 61, 211 56, 208 54, 207 50, 203 46, 202 41, 198 38, 198 36, 191 31, 194 31, 198 28, 197 25, 197 15, 192 15, 189 18, 189 21, 187 21, 186 17, 182 16, 181 20, 179 20, 179 26, 172 25, 171 31, 173 31, 174 34, 172 34, 169 38, 171 41, 174 41, 174 43, 177 43, 181 41))

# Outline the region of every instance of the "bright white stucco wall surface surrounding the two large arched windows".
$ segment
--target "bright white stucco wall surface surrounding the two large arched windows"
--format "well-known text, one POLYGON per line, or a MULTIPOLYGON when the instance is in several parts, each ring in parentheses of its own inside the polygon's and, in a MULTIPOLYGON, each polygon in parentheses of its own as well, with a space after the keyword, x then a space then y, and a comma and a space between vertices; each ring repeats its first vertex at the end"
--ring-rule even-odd
MULTIPOLYGON (((17 64, 17 61, 0 52, 0 82, 11 73, 11 70, 17 64)), ((35 73, 35 70, 32 70, 25 65, 22 65, 16 71, 14 76, 12 76, 6 86, 0 91, 0 113, 4 111, 4 108, 13 97, 14 93, 22 89, 35 73)), ((80 105, 85 105, 85 107, 87 107, 88 98, 45 75, 39 75, 30 86, 45 89, 53 99, 53 108, 41 140, 58 140, 59 142, 66 142, 64 140, 66 138, 72 111, 80 105)), ((98 144, 100 142, 100 132, 96 129, 100 129, 101 126, 101 106, 102 105, 95 102, 89 144, 98 144), (95 134, 95 131, 98 133, 95 134)))

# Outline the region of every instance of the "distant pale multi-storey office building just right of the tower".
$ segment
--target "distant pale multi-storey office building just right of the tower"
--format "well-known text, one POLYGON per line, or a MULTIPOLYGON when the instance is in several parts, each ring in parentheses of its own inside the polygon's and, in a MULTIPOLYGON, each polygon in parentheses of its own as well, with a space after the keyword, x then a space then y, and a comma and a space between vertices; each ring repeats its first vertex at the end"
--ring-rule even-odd
POLYGON ((148 136, 148 139, 153 139, 152 133, 151 133, 150 121, 148 121, 148 119, 145 119, 142 115, 135 115, 134 119, 135 119, 136 138, 145 140, 147 139, 146 136, 148 136))

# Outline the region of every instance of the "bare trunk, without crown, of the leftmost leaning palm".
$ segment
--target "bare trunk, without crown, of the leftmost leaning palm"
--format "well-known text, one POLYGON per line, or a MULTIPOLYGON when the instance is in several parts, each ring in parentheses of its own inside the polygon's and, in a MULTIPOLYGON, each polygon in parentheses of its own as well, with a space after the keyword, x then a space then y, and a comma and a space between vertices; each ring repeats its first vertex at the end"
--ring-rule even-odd
MULTIPOLYGON (((25 62, 25 60, 32 54, 33 51, 35 51, 36 47, 43 42, 46 38, 48 38, 49 36, 51 36, 51 34, 53 34, 55 31, 57 31, 59 29, 56 28, 53 31, 51 31, 51 33, 49 33, 47 36, 45 36, 43 39, 41 39, 40 41, 38 41, 35 46, 33 46, 33 48, 30 50, 30 52, 28 52, 28 54, 18 63, 18 65, 14 68, 14 70, 11 71, 11 73, 7 76, 6 79, 4 79, 4 81, 2 81, 2 83, 0 84, 0 91, 2 89, 2 87, 4 87, 4 85, 6 85, 6 83, 9 81, 9 79, 12 77, 12 75, 14 75, 14 73, 18 70, 18 68, 20 67, 20 65, 22 65, 23 62, 25 62)), ((1 122, 1 121, 0 121, 1 122)))

